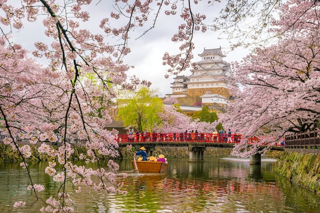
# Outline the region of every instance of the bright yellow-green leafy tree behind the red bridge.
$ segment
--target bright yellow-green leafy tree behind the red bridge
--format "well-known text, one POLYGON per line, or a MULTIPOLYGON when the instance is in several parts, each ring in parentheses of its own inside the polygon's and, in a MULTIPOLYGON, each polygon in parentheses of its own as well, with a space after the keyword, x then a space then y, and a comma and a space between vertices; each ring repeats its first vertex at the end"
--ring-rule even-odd
POLYGON ((164 110, 164 103, 156 95, 155 90, 142 87, 138 92, 127 91, 123 104, 119 107, 118 117, 124 125, 131 125, 139 131, 151 131, 156 125, 161 125, 159 112, 164 110))

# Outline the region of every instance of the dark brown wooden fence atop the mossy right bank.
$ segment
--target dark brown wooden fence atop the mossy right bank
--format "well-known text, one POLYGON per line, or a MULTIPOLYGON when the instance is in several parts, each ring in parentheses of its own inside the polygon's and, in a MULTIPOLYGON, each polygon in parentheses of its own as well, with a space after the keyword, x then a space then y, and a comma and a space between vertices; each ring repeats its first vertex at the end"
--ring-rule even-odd
POLYGON ((320 149, 320 130, 315 129, 286 136, 286 148, 320 149))

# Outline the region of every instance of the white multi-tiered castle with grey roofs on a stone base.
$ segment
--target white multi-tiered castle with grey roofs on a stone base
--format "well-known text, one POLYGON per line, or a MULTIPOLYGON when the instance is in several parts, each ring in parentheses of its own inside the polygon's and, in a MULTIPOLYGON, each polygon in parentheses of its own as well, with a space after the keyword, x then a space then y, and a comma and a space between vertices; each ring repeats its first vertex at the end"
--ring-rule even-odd
MULTIPOLYGON (((221 48, 203 49, 197 69, 191 70, 190 76, 176 76, 172 83, 172 95, 175 97, 200 97, 202 104, 226 104, 230 97, 227 76, 233 76, 230 63, 223 61, 226 57, 221 48)), ((168 95, 170 96, 170 95, 168 95)))

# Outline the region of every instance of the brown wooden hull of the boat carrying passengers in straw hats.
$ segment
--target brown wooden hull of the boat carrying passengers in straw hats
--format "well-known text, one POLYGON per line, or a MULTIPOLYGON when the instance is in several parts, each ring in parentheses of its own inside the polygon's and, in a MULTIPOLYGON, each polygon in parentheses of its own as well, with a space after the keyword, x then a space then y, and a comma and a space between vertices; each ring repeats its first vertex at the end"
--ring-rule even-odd
POLYGON ((167 171, 168 163, 154 161, 131 161, 133 169, 136 173, 139 172, 165 172, 167 171))

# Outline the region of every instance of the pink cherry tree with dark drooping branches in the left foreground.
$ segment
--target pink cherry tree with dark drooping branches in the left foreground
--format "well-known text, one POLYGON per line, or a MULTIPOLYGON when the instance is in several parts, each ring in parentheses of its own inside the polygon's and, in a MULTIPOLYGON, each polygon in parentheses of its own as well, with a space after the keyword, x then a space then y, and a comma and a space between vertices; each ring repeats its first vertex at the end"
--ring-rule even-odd
MULTIPOLYGON (((40 142, 38 151, 57 159, 57 162, 49 163, 45 172, 61 187, 57 197, 47 199, 41 209, 43 212, 74 211, 70 192, 66 190, 67 182, 75 185, 76 192, 81 192, 85 185, 106 193, 124 193, 115 178, 119 166, 110 160, 109 171, 99 162, 100 155, 116 157, 118 154, 114 139, 117 132, 104 129, 104 125, 111 122, 107 103, 117 97, 119 90, 150 86, 149 82, 140 81, 135 76, 128 82, 126 71, 130 67, 123 63, 123 57, 130 52, 129 33, 142 27, 154 9, 159 13, 163 7, 168 7, 165 11, 168 15, 177 12, 175 1, 142 3, 138 0, 130 4, 116 1, 113 3, 115 11, 110 14, 112 21, 102 17, 100 33, 94 34, 84 24, 90 18, 86 6, 92 4, 90 0, 70 0, 62 5, 54 0, 0 1, 0 44, 2 61, 6 62, 1 63, 0 102, 1 127, 7 135, 4 143, 23 156, 21 166, 27 170, 30 146, 19 147, 17 139, 29 140, 31 144, 40 142), (127 22, 120 21, 120 17, 127 22), (39 19, 49 39, 28 38, 28 43, 34 43, 31 54, 45 64, 43 68, 27 58, 28 52, 15 44, 11 37, 13 29, 20 30, 32 23, 33 29, 41 29, 39 19), (87 153, 81 157, 86 162, 96 162, 96 170, 69 161, 74 149, 68 142, 74 139, 86 141, 87 153), (58 142, 61 146, 54 148, 47 142, 58 142), (93 181, 93 176, 100 181, 93 181)), ((96 4, 102 3, 97 1, 96 4)), ((172 67, 169 73, 185 70, 192 64, 193 33, 201 29, 205 31, 201 23, 205 16, 193 14, 191 6, 191 2, 186 6, 182 4, 181 18, 185 23, 180 25, 179 32, 172 39, 182 43, 181 53, 173 57, 165 54, 164 57, 164 64, 172 67)), ((153 27, 154 24, 149 30, 153 27)), ((37 192, 45 189, 31 178, 30 182, 28 189, 38 198, 37 192)), ((14 206, 22 205, 25 205, 24 201, 18 201, 14 206)))

